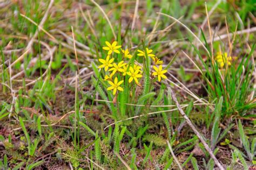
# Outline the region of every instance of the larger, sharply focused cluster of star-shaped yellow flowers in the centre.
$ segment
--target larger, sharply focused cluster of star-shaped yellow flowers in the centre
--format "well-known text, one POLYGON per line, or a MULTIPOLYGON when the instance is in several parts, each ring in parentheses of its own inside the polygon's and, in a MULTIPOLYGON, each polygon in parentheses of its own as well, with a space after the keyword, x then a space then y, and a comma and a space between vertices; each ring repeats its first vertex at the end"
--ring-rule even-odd
MULTIPOLYGON (((107 56, 106 59, 99 59, 100 65, 98 68, 104 68, 105 70, 104 81, 107 81, 110 84, 107 90, 113 90, 113 95, 116 95, 117 91, 123 91, 124 89, 121 87, 121 85, 124 82, 123 76, 126 75, 129 76, 129 83, 134 81, 137 85, 140 85, 139 79, 143 77, 142 66, 136 65, 135 63, 133 65, 128 65, 124 60, 120 62, 114 62, 115 59, 112 54, 120 54, 120 51, 122 52, 123 59, 126 58, 130 60, 132 55, 130 54, 129 50, 123 49, 122 46, 117 45, 117 41, 112 42, 112 44, 108 41, 105 41, 105 43, 106 46, 103 47, 103 49, 107 51, 107 56), (118 75, 123 80, 118 81, 118 75)), ((167 70, 163 70, 163 66, 161 64, 164 62, 158 59, 156 55, 152 54, 152 52, 152 49, 146 48, 147 56, 152 58, 154 65, 159 65, 159 67, 153 66, 154 72, 151 74, 152 78, 157 77, 157 80, 160 82, 161 79, 167 79, 167 77, 164 75, 167 70)), ((138 49, 138 56, 144 56, 144 58, 146 58, 146 54, 145 51, 140 51, 138 49)))

